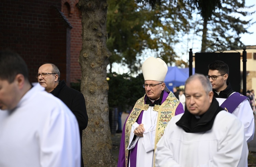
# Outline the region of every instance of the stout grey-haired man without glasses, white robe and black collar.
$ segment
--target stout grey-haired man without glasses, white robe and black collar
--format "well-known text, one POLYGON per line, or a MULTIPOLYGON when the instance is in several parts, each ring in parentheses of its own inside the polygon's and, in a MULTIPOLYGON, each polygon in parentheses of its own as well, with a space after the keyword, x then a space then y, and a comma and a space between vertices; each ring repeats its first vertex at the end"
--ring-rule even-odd
POLYGON ((219 107, 212 85, 195 74, 185 82, 186 110, 174 116, 157 144, 158 167, 245 167, 244 127, 219 107))

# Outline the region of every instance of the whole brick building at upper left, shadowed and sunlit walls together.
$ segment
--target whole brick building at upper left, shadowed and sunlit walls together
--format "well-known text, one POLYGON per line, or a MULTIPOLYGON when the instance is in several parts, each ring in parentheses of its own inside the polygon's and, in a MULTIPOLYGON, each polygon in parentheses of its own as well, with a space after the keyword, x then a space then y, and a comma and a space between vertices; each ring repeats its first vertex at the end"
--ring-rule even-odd
POLYGON ((1 0, 0 50, 20 54, 29 69, 29 79, 46 62, 60 69, 60 79, 81 79, 78 62, 82 49, 81 12, 78 0, 1 0))

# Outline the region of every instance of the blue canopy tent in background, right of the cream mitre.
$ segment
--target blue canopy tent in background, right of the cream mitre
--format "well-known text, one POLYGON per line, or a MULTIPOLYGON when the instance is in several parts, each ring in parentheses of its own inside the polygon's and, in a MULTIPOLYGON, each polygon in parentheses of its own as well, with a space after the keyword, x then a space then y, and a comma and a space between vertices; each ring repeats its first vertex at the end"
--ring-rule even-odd
MULTIPOLYGON (((193 74, 195 73, 195 68, 193 68, 193 74)), ((185 85, 185 81, 189 77, 189 69, 179 69, 176 66, 168 67, 168 72, 165 77, 166 87, 172 91, 173 87, 179 87, 185 85)))

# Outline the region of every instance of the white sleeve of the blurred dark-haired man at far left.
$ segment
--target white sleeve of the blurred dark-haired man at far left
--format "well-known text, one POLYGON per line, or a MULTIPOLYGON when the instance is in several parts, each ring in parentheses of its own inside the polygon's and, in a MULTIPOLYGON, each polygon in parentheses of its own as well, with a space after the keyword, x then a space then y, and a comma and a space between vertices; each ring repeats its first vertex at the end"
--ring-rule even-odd
POLYGON ((66 106, 53 109, 42 136, 41 167, 81 167, 78 123, 66 106))

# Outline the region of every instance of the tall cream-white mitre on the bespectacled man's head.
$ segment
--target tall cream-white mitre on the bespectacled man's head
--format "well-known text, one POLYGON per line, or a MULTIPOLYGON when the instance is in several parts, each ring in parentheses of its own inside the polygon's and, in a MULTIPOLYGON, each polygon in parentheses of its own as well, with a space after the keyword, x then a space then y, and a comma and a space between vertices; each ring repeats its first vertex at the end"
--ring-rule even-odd
POLYGON ((142 64, 144 80, 164 81, 167 70, 167 64, 160 58, 149 57, 142 64))

